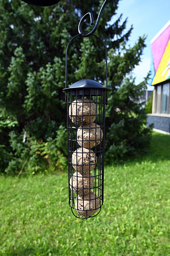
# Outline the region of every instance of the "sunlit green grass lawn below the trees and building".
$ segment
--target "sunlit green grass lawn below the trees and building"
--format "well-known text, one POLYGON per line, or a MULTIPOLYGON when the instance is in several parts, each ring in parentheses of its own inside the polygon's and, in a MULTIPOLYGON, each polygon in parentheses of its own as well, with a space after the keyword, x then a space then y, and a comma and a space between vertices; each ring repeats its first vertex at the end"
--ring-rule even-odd
POLYGON ((170 136, 105 167, 104 205, 87 220, 68 206, 67 173, 1 176, 0 255, 170 256, 170 136))

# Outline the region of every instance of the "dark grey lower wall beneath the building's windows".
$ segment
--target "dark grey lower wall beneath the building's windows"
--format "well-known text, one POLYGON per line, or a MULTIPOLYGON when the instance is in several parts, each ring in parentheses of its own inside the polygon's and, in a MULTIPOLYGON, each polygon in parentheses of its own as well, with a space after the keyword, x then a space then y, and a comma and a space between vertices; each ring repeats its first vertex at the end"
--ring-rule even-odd
POLYGON ((157 117, 148 115, 147 126, 153 123, 153 128, 162 130, 164 132, 170 132, 170 117, 157 117))

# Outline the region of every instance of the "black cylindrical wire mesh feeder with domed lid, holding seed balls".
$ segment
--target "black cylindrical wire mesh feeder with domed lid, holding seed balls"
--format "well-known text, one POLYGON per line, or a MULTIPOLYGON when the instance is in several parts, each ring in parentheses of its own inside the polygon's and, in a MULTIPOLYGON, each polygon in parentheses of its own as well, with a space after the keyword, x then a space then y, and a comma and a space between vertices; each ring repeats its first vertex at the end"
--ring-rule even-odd
POLYGON ((69 206, 75 217, 87 219, 100 213, 104 201, 107 86, 83 79, 64 90, 67 106, 69 206))

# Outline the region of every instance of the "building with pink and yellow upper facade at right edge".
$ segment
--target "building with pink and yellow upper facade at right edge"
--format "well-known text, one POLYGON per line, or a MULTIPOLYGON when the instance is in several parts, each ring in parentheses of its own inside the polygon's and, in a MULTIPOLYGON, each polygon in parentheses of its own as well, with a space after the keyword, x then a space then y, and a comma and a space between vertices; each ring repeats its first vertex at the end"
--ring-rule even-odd
POLYGON ((152 113, 147 115, 147 124, 154 129, 170 134, 170 20, 151 40, 153 67, 152 113))

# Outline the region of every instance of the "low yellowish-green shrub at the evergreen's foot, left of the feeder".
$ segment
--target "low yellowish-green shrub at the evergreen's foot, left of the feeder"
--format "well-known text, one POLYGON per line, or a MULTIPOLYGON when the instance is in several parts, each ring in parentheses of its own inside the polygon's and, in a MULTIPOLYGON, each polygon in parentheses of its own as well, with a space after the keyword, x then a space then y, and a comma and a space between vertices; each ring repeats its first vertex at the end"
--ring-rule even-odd
POLYGON ((5 168, 7 174, 35 174, 36 172, 64 171, 67 159, 57 147, 57 137, 37 141, 26 132, 21 135, 10 132, 10 146, 13 154, 5 168), (25 139, 24 139, 25 136, 25 139))

